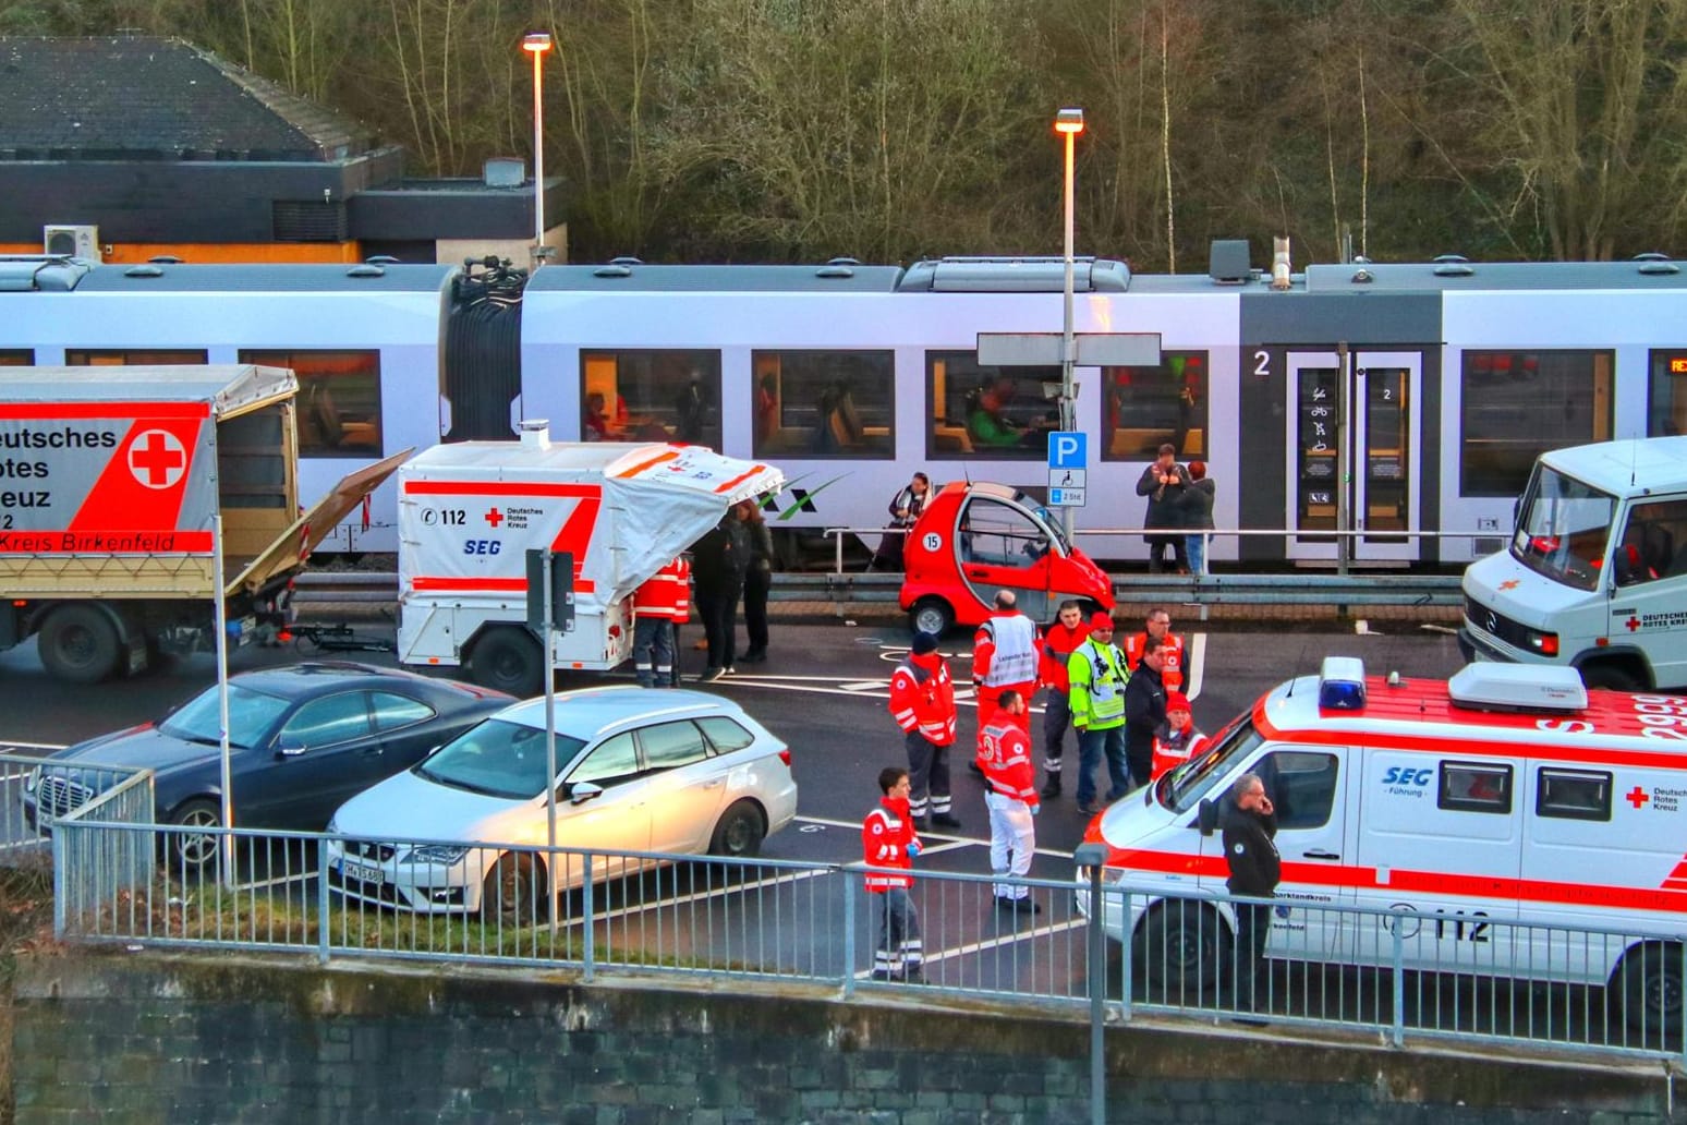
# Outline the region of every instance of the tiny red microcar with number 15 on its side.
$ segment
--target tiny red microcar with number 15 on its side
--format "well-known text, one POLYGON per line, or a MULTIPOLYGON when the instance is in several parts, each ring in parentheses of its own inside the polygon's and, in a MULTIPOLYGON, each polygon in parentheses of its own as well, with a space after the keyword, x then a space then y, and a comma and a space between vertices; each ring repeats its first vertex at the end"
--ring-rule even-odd
POLYGON ((984 624, 1002 589, 1039 622, 1054 621, 1070 597, 1085 616, 1113 609, 1107 572, 1034 499, 1004 484, 943 486, 909 528, 903 567, 901 606, 916 632, 984 624))

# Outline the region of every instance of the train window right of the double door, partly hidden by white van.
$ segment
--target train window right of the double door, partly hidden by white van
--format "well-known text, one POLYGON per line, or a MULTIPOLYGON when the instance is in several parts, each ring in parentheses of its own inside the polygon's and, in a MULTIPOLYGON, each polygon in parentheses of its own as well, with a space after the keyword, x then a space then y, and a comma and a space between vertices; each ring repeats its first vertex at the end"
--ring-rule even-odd
POLYGON ((1517 496, 1549 449, 1611 437, 1609 351, 1468 351, 1461 388, 1463 496, 1517 496))

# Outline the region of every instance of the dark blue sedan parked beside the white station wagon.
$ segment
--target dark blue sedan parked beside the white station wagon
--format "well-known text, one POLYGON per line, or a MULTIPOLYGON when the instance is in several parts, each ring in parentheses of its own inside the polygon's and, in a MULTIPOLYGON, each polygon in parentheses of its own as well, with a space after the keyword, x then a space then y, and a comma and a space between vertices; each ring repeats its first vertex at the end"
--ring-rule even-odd
MULTIPOLYGON (((265 668, 228 681, 234 825, 317 830, 351 796, 415 766, 434 747, 513 702, 503 692, 391 668, 319 661, 265 668)), ((24 789, 30 825, 93 799, 110 771, 148 767, 159 823, 223 823, 219 692, 213 685, 167 719, 100 735, 52 754, 24 789), (62 766, 61 766, 62 762, 62 766)), ((199 867, 214 837, 172 833, 170 865, 199 867)))

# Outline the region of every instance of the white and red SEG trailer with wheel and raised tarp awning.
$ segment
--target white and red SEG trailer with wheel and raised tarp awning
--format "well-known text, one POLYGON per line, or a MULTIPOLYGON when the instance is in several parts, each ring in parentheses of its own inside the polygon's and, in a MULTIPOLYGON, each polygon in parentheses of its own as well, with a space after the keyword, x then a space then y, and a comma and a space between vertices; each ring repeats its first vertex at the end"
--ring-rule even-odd
POLYGON ((633 592, 744 499, 773 466, 703 445, 552 442, 435 445, 398 472, 398 659, 454 668, 515 695, 543 690, 526 626, 528 548, 574 555, 574 629, 550 666, 604 671, 633 649, 633 592))

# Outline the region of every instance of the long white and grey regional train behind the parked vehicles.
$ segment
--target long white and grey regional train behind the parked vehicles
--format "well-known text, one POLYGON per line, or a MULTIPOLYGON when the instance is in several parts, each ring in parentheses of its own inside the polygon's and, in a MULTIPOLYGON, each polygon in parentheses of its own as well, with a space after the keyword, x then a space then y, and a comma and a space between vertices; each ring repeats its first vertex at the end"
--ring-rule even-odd
MULTIPOLYGON (((1312 265, 1275 288, 1218 250, 1205 275, 1076 261, 1075 329, 1102 339, 1080 342, 1083 450, 1054 484, 1083 498, 1097 558, 1145 557, 1137 481, 1162 445, 1216 482, 1220 567, 1338 550, 1412 567, 1498 550, 1539 452, 1687 427, 1687 275, 1660 255, 1312 265), (1135 363, 1081 366, 1124 347, 1135 363)), ((769 521, 786 552, 882 525, 914 471, 1044 499, 1063 300, 1058 258, 616 260, 531 278, 8 258, 0 364, 294 368, 305 496, 400 449, 513 437, 521 418, 563 440, 705 442, 784 469, 769 521), (980 337, 985 358, 1021 363, 980 363, 980 337)), ((324 550, 396 550, 391 486, 324 550)))

